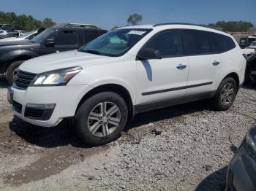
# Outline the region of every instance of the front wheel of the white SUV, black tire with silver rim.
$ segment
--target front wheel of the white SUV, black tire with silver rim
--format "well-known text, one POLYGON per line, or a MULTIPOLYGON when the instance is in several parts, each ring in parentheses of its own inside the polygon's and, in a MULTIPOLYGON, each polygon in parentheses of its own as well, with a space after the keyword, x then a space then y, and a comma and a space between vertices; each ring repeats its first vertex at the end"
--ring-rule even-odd
MULTIPOLYGON (((114 110, 113 112, 115 112, 114 110)), ((75 115, 75 126, 78 136, 83 142, 91 146, 98 146, 116 140, 127 125, 127 118, 127 104, 121 95, 113 92, 102 92, 83 102, 75 115), (106 106, 105 111, 108 112, 102 112, 101 108, 104 108, 104 106, 106 106), (117 106, 114 110, 117 111, 118 109, 118 112, 111 114, 110 108, 113 109, 113 106, 117 106), (102 119, 100 120, 99 117, 102 117, 102 119), (97 118, 97 120, 94 120, 94 118, 97 118), (107 122, 108 119, 110 122, 107 122), (118 120, 119 122, 116 122, 118 120), (97 122, 101 122, 101 124, 97 122), (104 125, 105 123, 108 124, 104 125), (115 123, 115 125, 112 123, 115 123), (108 127, 108 130, 105 127, 108 127), (96 132, 94 132, 95 130, 96 132)))

